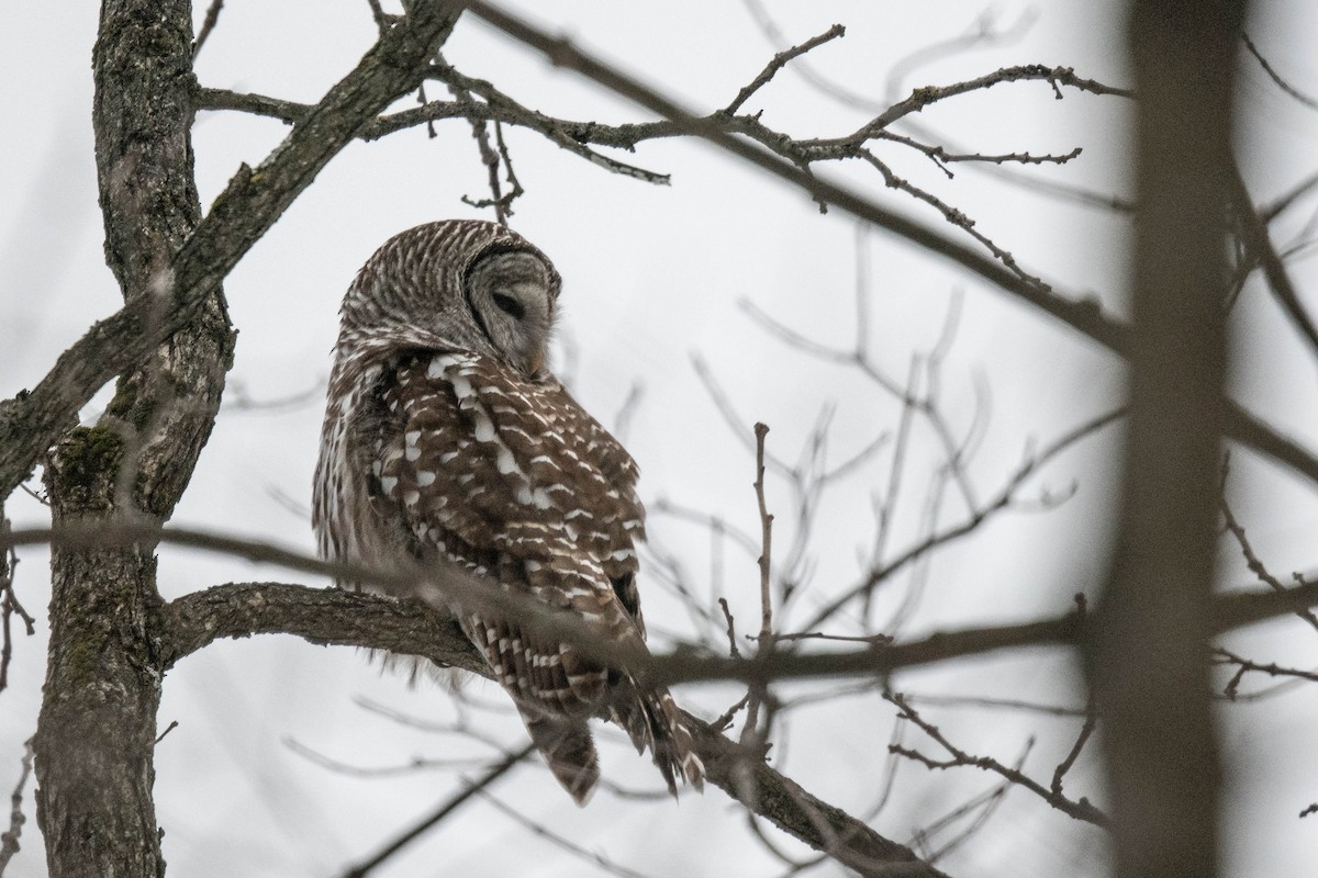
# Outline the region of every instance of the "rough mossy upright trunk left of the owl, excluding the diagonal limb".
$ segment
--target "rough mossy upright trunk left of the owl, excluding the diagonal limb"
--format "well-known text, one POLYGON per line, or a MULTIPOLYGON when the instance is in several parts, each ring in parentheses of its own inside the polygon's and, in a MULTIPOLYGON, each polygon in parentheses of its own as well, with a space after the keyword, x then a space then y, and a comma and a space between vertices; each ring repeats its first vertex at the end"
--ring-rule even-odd
MULTIPOLYGON (((145 304, 148 323, 163 316, 171 261, 200 217, 191 61, 186 0, 101 4, 92 122, 105 259, 125 304, 145 304)), ((216 287, 186 325, 120 376, 96 426, 61 440, 46 466, 57 525, 169 519, 210 438, 232 354, 216 287)), ((37 821, 50 874, 161 875, 152 800, 163 674, 154 546, 57 548, 51 567, 36 738, 37 821)))

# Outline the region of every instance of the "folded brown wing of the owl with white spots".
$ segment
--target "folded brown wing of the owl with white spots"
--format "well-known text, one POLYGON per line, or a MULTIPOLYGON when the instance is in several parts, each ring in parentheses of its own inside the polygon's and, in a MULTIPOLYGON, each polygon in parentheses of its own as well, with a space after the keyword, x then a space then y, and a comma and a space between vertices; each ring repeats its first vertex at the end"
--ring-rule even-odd
MULTIPOLYGON (((419 555, 572 611, 608 638, 639 637, 637 467, 556 382, 439 353, 401 365, 385 405, 395 430, 377 455, 380 495, 402 512, 419 555)), ((568 713, 600 700, 605 669, 572 648, 488 612, 461 621, 514 695, 568 713)))

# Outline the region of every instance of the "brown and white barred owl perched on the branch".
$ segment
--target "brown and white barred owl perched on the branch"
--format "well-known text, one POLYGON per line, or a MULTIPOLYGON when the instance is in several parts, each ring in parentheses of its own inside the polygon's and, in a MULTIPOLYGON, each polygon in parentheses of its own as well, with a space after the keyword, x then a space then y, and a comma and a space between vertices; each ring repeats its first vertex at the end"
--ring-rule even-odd
MULTIPOLYGON (((312 520, 326 558, 457 565, 642 646, 637 465, 546 369, 559 287, 540 250, 493 222, 434 222, 380 247, 343 301, 312 520)), ((420 596, 453 609, 577 803, 600 774, 592 717, 650 749, 673 794, 679 778, 701 785, 666 690, 514 611, 420 596)))

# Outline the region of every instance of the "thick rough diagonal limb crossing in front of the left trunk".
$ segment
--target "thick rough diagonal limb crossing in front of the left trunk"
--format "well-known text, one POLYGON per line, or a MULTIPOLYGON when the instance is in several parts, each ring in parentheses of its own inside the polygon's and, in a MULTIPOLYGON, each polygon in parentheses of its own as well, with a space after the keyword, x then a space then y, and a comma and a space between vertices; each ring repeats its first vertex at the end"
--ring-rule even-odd
POLYGON ((141 296, 92 325, 30 392, 0 403, 0 498, 28 478, 92 394, 188 321, 330 159, 422 82, 453 21, 439 0, 416 0, 260 167, 239 170, 174 255, 157 295, 141 296))

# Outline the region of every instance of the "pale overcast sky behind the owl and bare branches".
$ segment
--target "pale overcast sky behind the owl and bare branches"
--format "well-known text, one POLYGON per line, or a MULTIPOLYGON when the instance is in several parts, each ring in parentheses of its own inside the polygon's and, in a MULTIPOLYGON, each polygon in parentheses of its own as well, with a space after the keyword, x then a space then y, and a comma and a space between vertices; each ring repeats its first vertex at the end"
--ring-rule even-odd
MULTIPOLYGON (((1318 7, 1305 0, 1255 4, 1267 14, 1251 24, 1255 42, 1293 83, 1318 92, 1318 7)), ((1008 65, 1070 66, 1082 76, 1131 86, 1118 4, 1078 0, 995 3, 770 3, 791 42, 834 22, 844 39, 808 57, 811 70, 880 104, 912 87, 949 84, 1008 65), (912 51, 963 36, 990 16, 1016 37, 975 47, 894 79, 912 51)), ((742 3, 509 4, 572 36, 687 104, 726 104, 779 49, 742 3)), ((204 4, 196 9, 198 22, 204 4)), ((0 396, 34 384, 90 323, 116 311, 117 287, 101 257, 101 225, 92 158, 92 4, 9 3, 0 7, 0 115, 8 136, 0 151, 0 396)), ((228 0, 198 63, 206 86, 316 101, 351 70, 376 38, 360 0, 258 3, 228 0)), ((469 75, 490 79, 523 104, 567 118, 602 122, 648 118, 538 55, 464 21, 444 49, 469 75)), ((1247 107, 1242 150, 1260 200, 1285 192, 1314 172, 1318 113, 1282 95, 1242 50, 1240 93, 1247 107)), ((430 86, 442 96, 439 86, 430 86)), ((1032 167, 1033 179, 1082 184, 1128 195, 1130 155, 1123 142, 1128 107, 1115 97, 1064 91, 1054 100, 1043 83, 1004 84, 931 108, 913 120, 946 136, 954 150, 1083 154, 1065 167, 1032 167)), ((401 101, 399 107, 409 101, 401 101)), ((800 137, 854 130, 869 115, 821 96, 788 68, 746 109, 763 109, 767 125, 800 137)), ((912 132, 913 129, 900 129, 912 132)), ((257 165, 285 136, 282 124, 236 113, 203 113, 194 129, 202 204, 210 204, 240 162, 257 165)), ((235 391, 256 401, 312 391, 310 401, 270 411, 221 411, 192 486, 174 521, 312 550, 304 509, 319 441, 322 390, 337 326, 337 304, 357 267, 389 236, 419 222, 485 216, 460 203, 485 195, 484 170, 465 122, 444 122, 373 143, 355 143, 322 172, 225 283, 240 330, 235 391)), ((718 515, 754 530, 753 459, 702 390, 692 355, 705 358, 743 423, 770 424, 771 450, 795 459, 821 408, 834 411, 829 459, 842 461, 896 425, 898 407, 854 370, 821 365, 770 337, 739 303, 751 301, 813 340, 846 346, 854 337, 857 253, 870 266, 869 337, 874 362, 904 378, 916 353, 938 337, 949 303, 960 297, 956 342, 941 369, 941 401, 953 430, 986 423, 969 470, 977 492, 991 496, 1021 458, 1027 441, 1049 442, 1111 408, 1120 395, 1115 357, 978 280, 882 232, 858 237, 838 212, 820 216, 799 192, 716 149, 687 141, 643 143, 619 155, 671 172, 671 187, 609 175, 559 150, 538 134, 510 129, 509 145, 527 195, 514 205, 513 226, 546 250, 561 271, 564 324, 560 363, 579 399, 601 421, 616 424, 633 387, 641 401, 622 438, 642 467, 642 496, 718 515), (977 391, 977 387, 982 388, 977 391)), ((957 166, 948 180, 927 159, 894 146, 879 149, 898 172, 925 186, 977 221, 977 228, 1027 267, 1068 292, 1091 295, 1123 309, 1126 221, 1110 212, 1045 197, 1029 186, 1003 183, 957 166)), ((829 168, 830 179, 861 186, 925 222, 941 219, 865 167, 829 168)), ((1288 244, 1307 237, 1313 200, 1275 226, 1288 244)), ((949 226, 942 226, 949 228, 949 226)), ((1306 251, 1307 253, 1307 251, 1306 251)), ((1313 290, 1313 259, 1293 263, 1301 290, 1313 290)), ((1318 297, 1307 297, 1318 313, 1318 297)), ((1313 358, 1253 280, 1236 305, 1238 399, 1310 449, 1318 448, 1318 375, 1313 358)), ((103 392, 83 412, 92 420, 103 392)), ((1070 596, 1101 582, 1112 503, 1108 430, 1057 458, 1021 494, 1044 488, 1075 496, 1046 513, 1008 512, 973 538, 940 553, 928 584, 903 627, 890 633, 1015 621, 1061 612, 1070 596)), ((938 462, 932 433, 912 433, 912 469, 890 541, 890 555, 917 538, 931 467, 938 462)), ((874 532, 870 498, 888 479, 891 445, 828 494, 811 540, 812 575, 795 615, 836 594, 857 573, 874 532)), ((1313 486, 1289 478, 1248 453, 1234 458, 1232 495, 1259 554, 1282 579, 1313 570, 1318 503, 1313 486)), ((770 484, 779 512, 776 542, 791 542, 789 492, 770 484)), ((22 494, 7 508, 16 527, 46 521, 22 494)), ((965 508, 949 494, 944 527, 965 508)), ((688 584, 706 607, 726 595, 742 628, 758 617, 754 558, 731 545, 717 577, 708 532, 651 513, 651 536, 683 559, 688 584), (717 579, 717 583, 712 582, 717 579), (718 591, 713 588, 718 587, 718 591)), ((1238 552, 1223 549, 1223 582, 1248 583, 1238 552)), ((43 623, 49 596, 46 558, 21 555, 17 588, 43 623)), ((161 588, 175 598, 233 581, 297 582, 283 571, 175 549, 161 550, 161 588)), ((312 584, 324 584, 315 582, 312 584)), ((693 640, 696 623, 652 578, 646 594, 652 638, 693 640)), ((909 594, 909 579, 890 586, 879 619, 909 594)), ((841 633, 845 620, 837 623, 841 633)), ((887 631, 887 628, 886 628, 887 631)), ((1314 633, 1296 621, 1260 625, 1231 638, 1260 661, 1318 665, 1314 633)), ((714 641, 717 644, 717 641, 714 641)), ((45 625, 20 638, 12 682, 0 692, 0 792, 17 778, 21 742, 36 728, 43 671, 45 625)), ((975 658, 894 679, 902 691, 992 695, 1078 704, 1075 669, 1060 650, 975 658)), ((1246 690, 1267 681, 1251 678, 1246 690)), ((784 687, 784 695, 817 692, 830 683, 784 687)), ((502 706, 493 686, 467 692, 502 706)), ((713 717, 739 692, 731 686, 684 687, 679 700, 713 717)), ((221 642, 185 659, 165 683, 159 725, 178 721, 157 749, 157 802, 170 874, 336 875, 372 854, 402 828, 457 788, 452 771, 422 770, 385 778, 332 771, 299 754, 290 741, 353 766, 406 765, 414 758, 488 756, 469 738, 409 727, 360 706, 369 700, 430 723, 452 723, 452 699, 435 686, 411 688, 381 674, 364 656, 320 649, 287 637, 221 642)), ((476 710, 471 723, 507 746, 523 732, 506 711, 476 710)), ((933 720, 971 753, 1014 761, 1025 741, 1037 744, 1025 770, 1048 785, 1078 728, 1075 719, 1004 711, 929 707, 933 720)), ((1228 760, 1226 874, 1293 875, 1311 870, 1318 817, 1298 812, 1318 800, 1318 750, 1311 729, 1318 699, 1305 688, 1255 704, 1222 710, 1228 760)), ((774 750, 774 763, 822 799, 861 812, 886 781, 883 750, 894 710, 875 694, 825 702, 793 712, 774 750)), ((629 788, 658 788, 654 769, 606 733, 604 774, 629 788)), ((907 745, 941 756, 913 732, 907 745)), ((1091 744, 1069 778, 1074 796, 1102 802, 1091 744)), ((908 842, 912 833, 956 804, 992 786, 971 769, 931 775, 898 770, 894 799, 874 820, 883 835, 908 842)), ((527 763, 493 792, 529 817, 589 850, 646 875, 774 875, 774 861, 746 831, 720 791, 671 802, 630 803, 601 791, 576 810, 538 765, 527 763)), ((33 815, 32 786, 28 815, 33 815)), ((800 853, 789 840, 784 850, 800 853)), ((936 839, 936 844, 937 844, 936 839)), ((11 864, 17 878, 45 874, 36 821, 11 864)), ((967 845, 940 865, 953 875, 1057 875, 1102 873, 1101 831, 1077 824, 1024 790, 967 845)), ((453 821, 378 874, 565 877, 592 866, 536 839, 486 804, 468 806, 453 821)), ((840 874, 825 867, 822 874, 840 874)))

